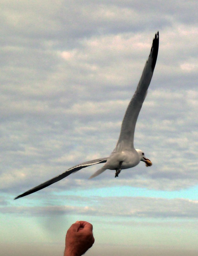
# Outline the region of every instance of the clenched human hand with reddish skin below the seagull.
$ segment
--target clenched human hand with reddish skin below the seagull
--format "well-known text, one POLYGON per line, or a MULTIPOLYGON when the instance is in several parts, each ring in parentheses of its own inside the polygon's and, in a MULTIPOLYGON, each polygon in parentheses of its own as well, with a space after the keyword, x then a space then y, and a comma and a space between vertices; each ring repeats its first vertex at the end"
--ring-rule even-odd
POLYGON ((95 241, 92 230, 92 224, 86 221, 72 224, 66 234, 64 256, 81 256, 91 248, 95 241))

